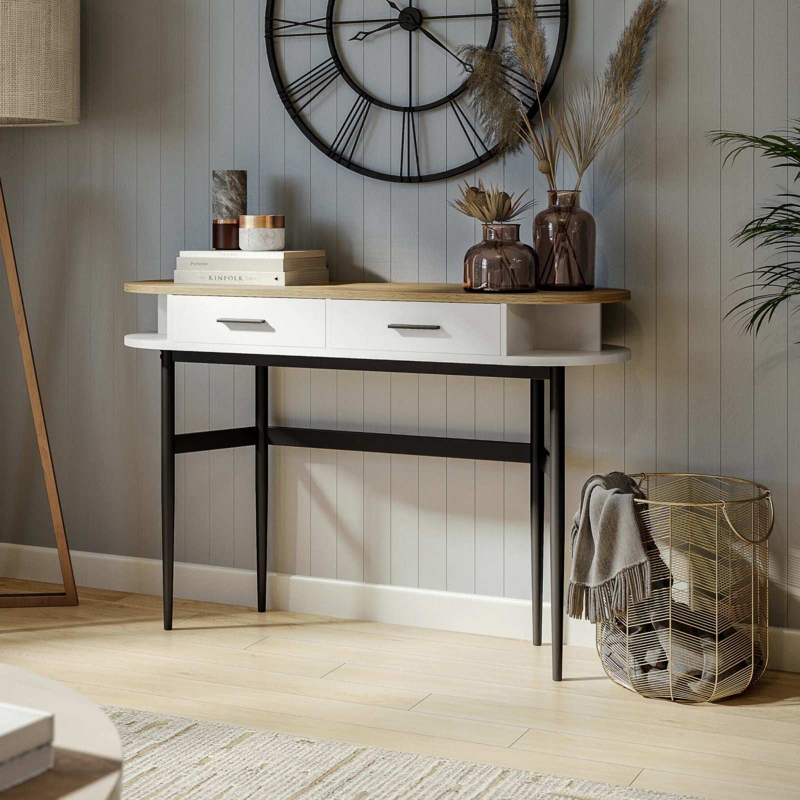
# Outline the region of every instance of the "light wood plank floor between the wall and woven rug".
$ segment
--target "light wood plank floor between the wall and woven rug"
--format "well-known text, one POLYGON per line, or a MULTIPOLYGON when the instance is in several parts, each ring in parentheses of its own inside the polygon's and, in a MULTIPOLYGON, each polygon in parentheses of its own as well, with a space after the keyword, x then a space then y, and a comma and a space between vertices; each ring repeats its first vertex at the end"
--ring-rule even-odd
MULTIPOLYGON (((52 590, 0 580, 0 590, 52 590)), ((0 609, 0 662, 95 702, 673 791, 800 800, 800 674, 713 706, 645 700, 593 650, 96 589, 0 609)))

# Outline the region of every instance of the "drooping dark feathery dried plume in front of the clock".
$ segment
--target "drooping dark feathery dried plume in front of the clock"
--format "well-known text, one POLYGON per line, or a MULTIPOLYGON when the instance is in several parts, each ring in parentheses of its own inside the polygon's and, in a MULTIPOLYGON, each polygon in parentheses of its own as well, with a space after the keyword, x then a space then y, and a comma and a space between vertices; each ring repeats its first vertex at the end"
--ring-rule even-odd
POLYGON ((497 142, 498 154, 506 156, 522 148, 518 130, 519 100, 506 82, 508 69, 514 69, 514 49, 502 50, 463 45, 458 55, 470 65, 466 86, 475 116, 490 140, 497 142))

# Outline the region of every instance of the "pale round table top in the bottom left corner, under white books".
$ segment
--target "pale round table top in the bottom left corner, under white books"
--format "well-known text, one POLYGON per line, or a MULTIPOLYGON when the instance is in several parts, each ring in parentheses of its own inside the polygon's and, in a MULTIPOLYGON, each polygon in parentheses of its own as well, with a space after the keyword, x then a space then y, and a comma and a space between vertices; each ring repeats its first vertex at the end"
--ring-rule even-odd
POLYGON ((122 742, 114 723, 62 683, 0 664, 0 702, 55 714, 55 766, 0 792, 0 800, 118 800, 122 742))

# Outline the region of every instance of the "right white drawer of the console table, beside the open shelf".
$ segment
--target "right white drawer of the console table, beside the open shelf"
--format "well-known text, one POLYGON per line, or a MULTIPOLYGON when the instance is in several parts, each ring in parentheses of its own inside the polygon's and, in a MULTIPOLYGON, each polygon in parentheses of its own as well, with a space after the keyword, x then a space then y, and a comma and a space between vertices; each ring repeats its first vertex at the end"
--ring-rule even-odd
POLYGON ((499 355, 501 306, 331 300, 330 346, 397 353, 499 355))

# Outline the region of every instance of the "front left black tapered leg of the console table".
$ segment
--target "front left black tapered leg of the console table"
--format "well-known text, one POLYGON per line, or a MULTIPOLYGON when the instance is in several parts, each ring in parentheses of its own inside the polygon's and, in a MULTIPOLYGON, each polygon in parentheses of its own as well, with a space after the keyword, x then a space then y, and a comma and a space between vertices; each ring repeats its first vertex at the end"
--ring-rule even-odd
POLYGON ((164 630, 172 630, 175 568, 175 362, 161 353, 161 562, 164 630))

